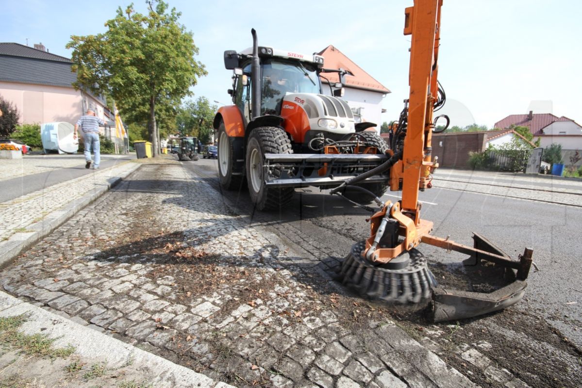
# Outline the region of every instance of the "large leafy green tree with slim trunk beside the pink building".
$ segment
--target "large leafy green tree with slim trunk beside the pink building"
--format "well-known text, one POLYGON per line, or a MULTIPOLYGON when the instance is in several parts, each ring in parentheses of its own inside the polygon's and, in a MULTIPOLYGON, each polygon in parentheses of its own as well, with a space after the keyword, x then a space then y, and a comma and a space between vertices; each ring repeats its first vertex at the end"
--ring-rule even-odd
POLYGON ((127 117, 137 117, 147 107, 148 134, 157 156, 160 111, 177 108, 197 77, 207 73, 194 59, 198 48, 192 33, 178 22, 181 14, 162 0, 146 3, 147 15, 136 12, 133 4, 125 11, 119 7, 116 17, 105 23, 107 32, 73 35, 67 48, 73 49, 74 87, 107 91, 127 117))

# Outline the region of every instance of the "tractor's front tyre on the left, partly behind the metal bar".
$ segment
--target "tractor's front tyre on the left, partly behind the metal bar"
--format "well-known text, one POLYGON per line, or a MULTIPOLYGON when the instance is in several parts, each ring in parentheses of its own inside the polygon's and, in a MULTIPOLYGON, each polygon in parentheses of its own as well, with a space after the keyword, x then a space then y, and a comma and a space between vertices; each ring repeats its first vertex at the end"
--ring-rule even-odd
MULTIPOLYGON (((292 154, 291 141, 277 127, 258 127, 247 141, 246 176, 251 201, 258 210, 281 209, 291 202, 292 187, 267 187, 264 179, 265 154, 292 154)), ((275 171, 276 173, 276 171, 275 171)))

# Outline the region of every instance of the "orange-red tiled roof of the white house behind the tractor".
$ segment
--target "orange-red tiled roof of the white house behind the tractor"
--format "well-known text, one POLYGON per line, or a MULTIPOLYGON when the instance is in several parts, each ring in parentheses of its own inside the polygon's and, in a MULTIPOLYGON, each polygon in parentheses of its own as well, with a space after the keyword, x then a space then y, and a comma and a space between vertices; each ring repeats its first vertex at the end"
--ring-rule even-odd
MULTIPOLYGON (((319 52, 319 55, 324 56, 324 66, 327 69, 345 69, 350 70, 354 75, 346 76, 346 86, 356 89, 371 90, 380 93, 389 93, 390 90, 379 83, 370 74, 366 73, 360 66, 356 65, 351 59, 347 58, 337 48, 329 45, 319 52)), ((331 83, 339 82, 338 73, 325 73, 324 77, 331 83)), ((322 82, 327 83, 327 80, 321 79, 322 82)))

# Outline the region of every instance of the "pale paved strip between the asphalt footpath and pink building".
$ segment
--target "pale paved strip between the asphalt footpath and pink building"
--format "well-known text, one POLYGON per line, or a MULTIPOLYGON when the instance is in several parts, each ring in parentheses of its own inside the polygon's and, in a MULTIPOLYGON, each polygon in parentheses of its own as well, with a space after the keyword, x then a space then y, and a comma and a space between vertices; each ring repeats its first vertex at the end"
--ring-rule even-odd
MULTIPOLYGON (((102 160, 127 155, 101 155, 102 160)), ((0 181, 21 176, 83 165, 83 153, 77 155, 23 155, 22 159, 0 159, 0 181)))

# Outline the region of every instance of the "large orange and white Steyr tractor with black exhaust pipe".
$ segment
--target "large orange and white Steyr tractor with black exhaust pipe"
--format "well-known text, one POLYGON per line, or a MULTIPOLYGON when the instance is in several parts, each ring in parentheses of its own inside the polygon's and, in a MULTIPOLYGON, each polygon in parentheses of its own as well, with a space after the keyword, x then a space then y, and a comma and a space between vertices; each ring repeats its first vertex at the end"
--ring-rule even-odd
MULTIPOLYGON (((324 69, 320 55, 259 47, 225 51, 233 70, 234 105, 214 118, 222 187, 239 190, 245 181, 257 209, 284 207, 295 187, 338 187, 388 159, 388 145, 372 123, 354 123, 342 98, 345 70, 324 69), (320 74, 337 72, 332 95, 322 94, 320 74)), ((330 86, 331 89, 331 86, 330 86)), ((363 203, 384 194, 389 173, 373 174, 342 190, 363 203), (363 189, 363 190, 362 190, 363 189)))

